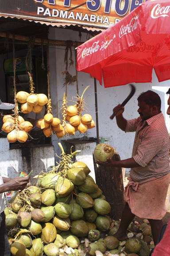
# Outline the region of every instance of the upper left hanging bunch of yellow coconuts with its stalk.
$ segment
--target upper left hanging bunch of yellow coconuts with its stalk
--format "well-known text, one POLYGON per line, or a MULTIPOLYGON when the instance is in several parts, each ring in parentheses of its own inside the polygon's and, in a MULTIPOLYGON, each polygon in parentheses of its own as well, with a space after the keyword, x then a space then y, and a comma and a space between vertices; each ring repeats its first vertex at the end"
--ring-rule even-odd
POLYGON ((17 92, 16 100, 21 103, 21 112, 24 114, 29 113, 31 111, 35 113, 40 113, 42 110, 42 106, 46 105, 48 102, 48 98, 45 94, 39 93, 35 94, 35 87, 33 83, 32 76, 30 72, 28 72, 29 83, 30 83, 30 94, 28 92, 17 92))

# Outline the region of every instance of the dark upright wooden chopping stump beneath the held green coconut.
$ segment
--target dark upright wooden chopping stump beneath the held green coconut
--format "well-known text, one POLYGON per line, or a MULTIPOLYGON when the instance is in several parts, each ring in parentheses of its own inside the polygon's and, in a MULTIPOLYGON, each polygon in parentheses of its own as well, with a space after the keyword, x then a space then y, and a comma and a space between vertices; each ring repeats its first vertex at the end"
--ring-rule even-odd
MULTIPOLYGON (((112 160, 120 161, 117 152, 112 156, 112 160)), ((111 206, 111 217, 113 220, 119 220, 124 209, 124 184, 122 177, 122 168, 120 167, 104 167, 96 164, 93 155, 94 171, 96 176, 96 184, 102 190, 106 201, 111 206)))

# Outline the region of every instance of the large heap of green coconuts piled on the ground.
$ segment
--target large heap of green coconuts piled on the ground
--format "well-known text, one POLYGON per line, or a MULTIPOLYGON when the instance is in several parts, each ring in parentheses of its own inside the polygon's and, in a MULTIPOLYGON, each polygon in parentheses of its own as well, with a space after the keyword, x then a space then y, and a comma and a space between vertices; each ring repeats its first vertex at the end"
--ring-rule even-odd
POLYGON ((117 240, 120 221, 108 216, 110 204, 89 173, 86 164, 70 162, 67 172, 40 174, 19 193, 5 209, 13 256, 149 256, 151 227, 131 224, 128 240, 117 240))

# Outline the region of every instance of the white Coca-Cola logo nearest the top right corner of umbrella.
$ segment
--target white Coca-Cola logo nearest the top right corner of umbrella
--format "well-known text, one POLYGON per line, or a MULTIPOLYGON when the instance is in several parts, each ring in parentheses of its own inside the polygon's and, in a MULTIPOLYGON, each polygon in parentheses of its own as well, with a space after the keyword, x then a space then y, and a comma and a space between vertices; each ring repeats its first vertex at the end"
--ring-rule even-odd
POLYGON ((150 16, 153 19, 158 17, 170 16, 170 6, 162 6, 161 4, 155 4, 149 11, 150 16))

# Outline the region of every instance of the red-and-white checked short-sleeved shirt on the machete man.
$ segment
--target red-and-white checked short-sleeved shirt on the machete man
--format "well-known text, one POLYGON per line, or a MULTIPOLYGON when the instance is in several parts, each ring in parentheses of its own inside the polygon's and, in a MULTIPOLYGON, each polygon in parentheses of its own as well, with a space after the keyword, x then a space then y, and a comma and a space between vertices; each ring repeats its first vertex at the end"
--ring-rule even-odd
POLYGON ((132 157, 140 167, 131 168, 130 177, 141 182, 170 172, 170 138, 162 112, 147 120, 127 120, 125 132, 136 132, 132 157))

